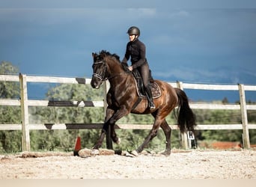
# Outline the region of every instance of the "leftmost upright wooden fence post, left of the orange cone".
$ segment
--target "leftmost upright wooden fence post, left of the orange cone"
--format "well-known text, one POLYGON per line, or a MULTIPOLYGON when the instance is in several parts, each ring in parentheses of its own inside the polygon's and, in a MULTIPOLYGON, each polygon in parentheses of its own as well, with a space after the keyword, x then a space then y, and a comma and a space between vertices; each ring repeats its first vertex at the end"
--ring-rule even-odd
POLYGON ((28 129, 28 90, 26 76, 19 73, 20 107, 22 114, 22 151, 30 151, 30 137, 28 129))

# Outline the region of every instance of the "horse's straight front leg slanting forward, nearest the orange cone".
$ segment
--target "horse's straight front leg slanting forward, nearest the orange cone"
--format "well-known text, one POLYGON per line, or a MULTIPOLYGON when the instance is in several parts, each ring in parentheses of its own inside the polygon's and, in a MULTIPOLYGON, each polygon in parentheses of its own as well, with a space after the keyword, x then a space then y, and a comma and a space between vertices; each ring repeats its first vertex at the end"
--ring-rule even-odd
POLYGON ((115 113, 114 110, 112 110, 111 108, 107 108, 105 122, 103 125, 103 129, 101 130, 100 138, 98 139, 97 143, 94 145, 93 149, 98 150, 102 146, 104 138, 106 136, 106 132, 109 130, 109 120, 114 113, 115 113))

